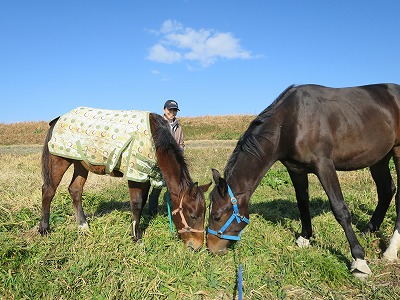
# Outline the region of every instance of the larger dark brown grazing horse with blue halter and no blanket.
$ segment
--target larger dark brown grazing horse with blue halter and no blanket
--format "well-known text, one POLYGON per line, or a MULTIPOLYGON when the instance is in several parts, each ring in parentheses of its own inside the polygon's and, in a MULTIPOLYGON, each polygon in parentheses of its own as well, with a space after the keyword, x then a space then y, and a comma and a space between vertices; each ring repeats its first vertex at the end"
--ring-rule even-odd
MULTIPOLYGON (((342 226, 357 277, 371 273, 357 240, 351 215, 336 170, 369 167, 377 187, 378 204, 366 232, 379 229, 395 194, 389 160, 393 158, 400 183, 400 86, 374 84, 349 88, 318 85, 288 87, 262 111, 239 139, 227 162, 224 178, 213 170, 215 187, 210 193, 207 247, 225 254, 248 223, 250 197, 276 161, 282 162, 292 180, 301 218, 296 243, 308 246, 312 236, 308 173, 317 175, 333 214, 342 226)), ((400 247, 400 199, 397 219, 383 256, 396 259, 400 247)))

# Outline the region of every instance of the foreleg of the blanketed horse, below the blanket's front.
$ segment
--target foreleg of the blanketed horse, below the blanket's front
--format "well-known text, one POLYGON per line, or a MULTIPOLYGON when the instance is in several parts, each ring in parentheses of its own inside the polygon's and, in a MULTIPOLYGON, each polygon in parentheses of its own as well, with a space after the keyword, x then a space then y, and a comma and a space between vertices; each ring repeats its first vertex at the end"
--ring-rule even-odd
POLYGON ((129 200, 132 215, 132 239, 134 242, 140 242, 142 239, 142 231, 140 230, 140 217, 142 216, 143 207, 149 194, 149 182, 128 181, 129 200))

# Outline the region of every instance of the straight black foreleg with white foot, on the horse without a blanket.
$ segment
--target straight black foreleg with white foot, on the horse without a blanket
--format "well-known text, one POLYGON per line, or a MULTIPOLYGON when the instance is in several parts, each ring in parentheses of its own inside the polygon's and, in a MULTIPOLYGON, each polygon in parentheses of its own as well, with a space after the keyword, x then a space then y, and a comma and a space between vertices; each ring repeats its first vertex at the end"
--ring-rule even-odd
POLYGON ((310 245, 312 236, 310 200, 308 195, 308 177, 306 173, 294 173, 288 171, 296 192, 297 206, 300 212, 301 234, 296 240, 296 244, 305 248, 310 245))

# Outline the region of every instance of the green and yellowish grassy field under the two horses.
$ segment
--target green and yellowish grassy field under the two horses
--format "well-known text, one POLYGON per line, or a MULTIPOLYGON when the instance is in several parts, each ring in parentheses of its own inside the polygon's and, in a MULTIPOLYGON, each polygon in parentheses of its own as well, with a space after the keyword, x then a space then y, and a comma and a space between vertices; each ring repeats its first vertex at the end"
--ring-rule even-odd
MULTIPOLYGON (((192 178, 200 183, 211 180, 212 167, 223 171, 234 145, 202 140, 236 139, 240 132, 229 129, 243 132, 251 120, 250 116, 232 116, 237 123, 227 126, 223 123, 226 117, 207 118, 203 125, 206 118, 182 121, 186 136, 201 137, 188 139, 185 151, 192 178)), ((127 184, 108 176, 89 175, 83 205, 91 231, 81 234, 67 192, 72 170, 52 203, 52 233, 41 237, 37 233, 41 145, 35 139, 41 141, 46 129, 46 122, 0 124, 1 299, 236 299, 239 264, 243 266, 244 299, 400 298, 400 264, 380 258, 393 231, 394 204, 379 234, 360 233, 377 198, 368 170, 339 173, 354 228, 373 272, 368 281, 361 282, 348 271, 347 240, 313 175, 312 247, 295 245, 299 213, 289 176, 279 163, 251 199, 251 223, 241 243, 222 257, 204 247, 197 252, 188 250, 172 236, 165 203, 160 203, 154 218, 143 215, 143 244, 133 244, 127 184), (4 134, 5 130, 9 133, 4 134), (26 135, 25 142, 15 137, 18 132, 26 135)))

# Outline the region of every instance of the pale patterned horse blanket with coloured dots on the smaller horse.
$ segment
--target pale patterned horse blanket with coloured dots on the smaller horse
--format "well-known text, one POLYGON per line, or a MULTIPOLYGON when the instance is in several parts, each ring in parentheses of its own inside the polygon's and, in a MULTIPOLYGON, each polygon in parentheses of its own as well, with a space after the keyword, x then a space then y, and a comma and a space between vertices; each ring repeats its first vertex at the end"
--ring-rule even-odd
POLYGON ((77 107, 60 116, 50 153, 117 170, 128 180, 163 184, 150 130, 149 112, 77 107))

